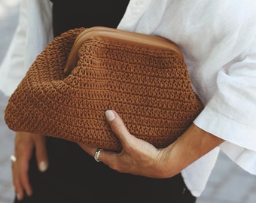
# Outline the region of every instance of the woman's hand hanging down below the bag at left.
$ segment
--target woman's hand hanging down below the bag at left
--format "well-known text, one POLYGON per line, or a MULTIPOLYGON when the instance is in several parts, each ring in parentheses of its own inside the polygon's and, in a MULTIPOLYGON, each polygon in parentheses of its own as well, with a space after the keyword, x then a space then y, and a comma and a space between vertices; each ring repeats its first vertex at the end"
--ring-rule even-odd
POLYGON ((29 183, 29 161, 34 149, 38 169, 44 172, 48 167, 46 137, 29 132, 16 132, 14 156, 17 160, 12 164, 12 174, 14 190, 19 200, 24 198, 24 192, 26 195, 32 195, 32 186, 29 183))

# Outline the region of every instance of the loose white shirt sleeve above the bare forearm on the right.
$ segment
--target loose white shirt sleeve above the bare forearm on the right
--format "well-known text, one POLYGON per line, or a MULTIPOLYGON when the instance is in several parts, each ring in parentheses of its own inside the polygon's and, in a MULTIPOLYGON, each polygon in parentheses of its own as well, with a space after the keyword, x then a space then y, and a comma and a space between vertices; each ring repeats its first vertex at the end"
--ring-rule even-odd
POLYGON ((251 174, 256 174, 255 35, 245 50, 218 71, 215 93, 194 121, 223 138, 221 150, 251 174))

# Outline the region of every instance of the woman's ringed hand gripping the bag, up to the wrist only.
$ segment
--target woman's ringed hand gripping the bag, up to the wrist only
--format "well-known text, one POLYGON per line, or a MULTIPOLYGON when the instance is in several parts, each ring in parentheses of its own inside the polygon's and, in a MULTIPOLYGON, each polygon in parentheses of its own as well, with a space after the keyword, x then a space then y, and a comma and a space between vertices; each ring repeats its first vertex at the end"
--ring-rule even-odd
MULTIPOLYGON (((131 135, 126 126, 114 111, 105 112, 111 129, 120 139, 123 149, 120 153, 102 150, 99 160, 110 168, 121 173, 142 175, 146 177, 169 177, 166 174, 166 149, 157 149, 152 144, 131 135)), ((94 156, 97 148, 79 144, 87 153, 94 156)))

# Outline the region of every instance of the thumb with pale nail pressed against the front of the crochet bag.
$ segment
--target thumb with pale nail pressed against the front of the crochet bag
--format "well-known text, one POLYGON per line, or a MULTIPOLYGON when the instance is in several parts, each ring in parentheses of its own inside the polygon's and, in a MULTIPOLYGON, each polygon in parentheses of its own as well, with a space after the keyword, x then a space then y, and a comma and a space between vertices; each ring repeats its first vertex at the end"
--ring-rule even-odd
POLYGON ((121 120, 118 114, 115 111, 108 110, 105 111, 105 117, 111 126, 112 131, 115 135, 117 135, 117 138, 119 138, 123 147, 131 145, 131 142, 133 142, 136 138, 131 135, 130 132, 128 132, 123 120, 121 120))

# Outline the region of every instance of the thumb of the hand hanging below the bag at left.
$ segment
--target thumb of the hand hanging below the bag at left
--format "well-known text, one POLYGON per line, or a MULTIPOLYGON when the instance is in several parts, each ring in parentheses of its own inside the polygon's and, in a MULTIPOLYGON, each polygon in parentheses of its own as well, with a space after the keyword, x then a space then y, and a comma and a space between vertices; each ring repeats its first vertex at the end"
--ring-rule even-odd
POLYGON ((38 162, 38 169, 44 172, 48 168, 48 156, 46 147, 46 138, 43 135, 36 135, 35 139, 35 156, 38 162))

